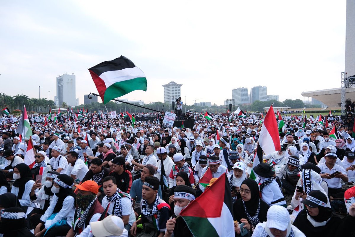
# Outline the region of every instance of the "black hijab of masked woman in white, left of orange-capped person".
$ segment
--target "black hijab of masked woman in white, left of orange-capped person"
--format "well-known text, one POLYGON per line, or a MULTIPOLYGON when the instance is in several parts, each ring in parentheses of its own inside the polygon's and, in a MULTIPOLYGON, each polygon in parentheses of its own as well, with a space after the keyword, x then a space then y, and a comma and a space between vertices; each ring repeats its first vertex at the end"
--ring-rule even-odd
MULTIPOLYGON (((62 208, 63 208, 63 202, 64 199, 67 196, 72 196, 74 198, 74 206, 76 205, 76 194, 73 192, 73 189, 71 188, 71 185, 74 183, 74 179, 70 176, 67 176, 66 174, 60 174, 58 175, 56 179, 59 179, 60 181, 64 182, 65 184, 69 185, 69 187, 64 188, 60 184, 59 185, 59 193, 56 193, 55 195, 58 196, 58 201, 54 206, 53 213, 58 213, 62 208)), ((53 181, 55 182, 55 181, 53 181)))

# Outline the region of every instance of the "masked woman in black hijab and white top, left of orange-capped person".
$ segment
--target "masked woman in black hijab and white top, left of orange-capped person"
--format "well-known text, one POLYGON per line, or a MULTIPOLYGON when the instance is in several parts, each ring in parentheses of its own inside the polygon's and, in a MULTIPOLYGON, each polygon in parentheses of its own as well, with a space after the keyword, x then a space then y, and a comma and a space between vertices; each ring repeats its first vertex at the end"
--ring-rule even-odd
POLYGON ((54 179, 51 188, 53 199, 40 218, 40 223, 34 230, 35 235, 44 237, 65 236, 71 229, 74 218, 76 195, 71 186, 74 179, 66 174, 60 174, 54 179), (43 229, 42 229, 43 228, 43 229))

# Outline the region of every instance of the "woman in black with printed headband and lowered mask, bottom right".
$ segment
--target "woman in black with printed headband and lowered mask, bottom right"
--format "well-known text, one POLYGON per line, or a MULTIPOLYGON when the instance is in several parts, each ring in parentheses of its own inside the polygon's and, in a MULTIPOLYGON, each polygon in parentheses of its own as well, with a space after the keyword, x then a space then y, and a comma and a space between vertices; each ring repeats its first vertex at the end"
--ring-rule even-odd
POLYGON ((308 193, 307 199, 301 201, 306 205, 296 217, 293 225, 307 237, 350 236, 349 226, 332 213, 327 207, 327 195, 319 190, 308 193))

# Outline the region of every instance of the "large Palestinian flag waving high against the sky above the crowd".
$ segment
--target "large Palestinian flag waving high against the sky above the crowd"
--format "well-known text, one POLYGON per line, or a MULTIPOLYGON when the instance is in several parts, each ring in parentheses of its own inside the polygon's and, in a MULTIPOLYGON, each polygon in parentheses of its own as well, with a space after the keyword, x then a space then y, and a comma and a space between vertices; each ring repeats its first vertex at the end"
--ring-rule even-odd
POLYGON ((143 71, 125 56, 99 63, 89 72, 104 104, 131 91, 147 91, 143 71))

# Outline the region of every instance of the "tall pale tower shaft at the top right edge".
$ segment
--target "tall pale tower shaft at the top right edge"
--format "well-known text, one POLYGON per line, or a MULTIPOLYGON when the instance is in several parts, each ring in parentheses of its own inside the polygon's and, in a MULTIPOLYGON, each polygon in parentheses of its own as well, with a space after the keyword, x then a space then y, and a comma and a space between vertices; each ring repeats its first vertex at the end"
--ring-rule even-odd
POLYGON ((355 0, 346 0, 345 71, 355 75, 355 0))

